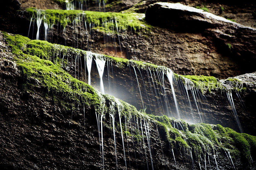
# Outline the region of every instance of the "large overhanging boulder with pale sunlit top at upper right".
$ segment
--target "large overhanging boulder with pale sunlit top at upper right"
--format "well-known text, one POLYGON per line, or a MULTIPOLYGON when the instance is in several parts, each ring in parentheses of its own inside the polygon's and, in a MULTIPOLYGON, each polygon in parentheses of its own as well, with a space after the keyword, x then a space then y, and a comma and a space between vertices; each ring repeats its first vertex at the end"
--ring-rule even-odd
MULTIPOLYGON (((155 3, 148 7, 146 20, 182 32, 203 33, 211 37, 222 54, 239 63, 239 70, 253 72, 256 61, 256 29, 242 26, 223 17, 182 4, 155 3)), ((213 73, 213 72, 212 72, 213 73)))

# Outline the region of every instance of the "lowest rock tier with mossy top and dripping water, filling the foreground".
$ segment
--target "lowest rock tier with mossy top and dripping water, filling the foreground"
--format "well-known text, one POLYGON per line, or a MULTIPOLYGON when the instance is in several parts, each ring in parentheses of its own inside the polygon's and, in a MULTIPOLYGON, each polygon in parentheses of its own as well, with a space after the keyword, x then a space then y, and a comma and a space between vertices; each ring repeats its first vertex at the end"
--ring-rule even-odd
POLYGON ((188 124, 140 113, 72 78, 59 64, 6 44, 2 35, 0 39, 2 168, 101 169, 103 164, 105 169, 115 169, 116 164, 118 169, 254 167, 250 156, 254 160, 255 137, 220 125, 188 124), (110 114, 115 120, 116 153, 110 114))

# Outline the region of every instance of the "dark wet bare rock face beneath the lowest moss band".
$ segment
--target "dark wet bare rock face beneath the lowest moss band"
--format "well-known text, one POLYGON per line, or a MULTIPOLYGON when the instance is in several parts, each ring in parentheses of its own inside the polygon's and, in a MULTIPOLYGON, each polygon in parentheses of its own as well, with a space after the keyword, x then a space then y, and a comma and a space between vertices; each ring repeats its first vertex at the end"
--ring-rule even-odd
MULTIPOLYGON (((0 36, 2 39, 2 37, 0 36)), ((58 99, 54 95, 48 97, 44 94, 44 87, 40 82, 26 79, 13 62, 13 54, 10 53, 4 43, 1 43, 0 58, 0 164, 4 169, 101 169, 100 147, 97 130, 95 110, 92 107, 75 106, 63 107, 60 100, 66 100, 61 96, 58 99), (27 82, 28 81, 28 82, 27 82), (33 84, 32 89, 24 89, 24 84, 33 84), (94 117, 95 116, 95 117, 94 117)), ((67 102, 70 102, 67 100, 67 102)), ((105 115, 108 117, 108 114, 105 115)), ((104 123, 104 158, 105 168, 115 169, 115 152, 112 139, 112 131, 108 122, 104 123)), ((194 152, 179 150, 176 145, 174 155, 172 147, 166 140, 164 131, 160 131, 159 140, 156 130, 158 125, 154 122, 149 125, 150 143, 153 165, 155 169, 199 169, 199 164, 192 164, 189 156, 194 157, 194 152), (162 154, 164 151, 164 154, 162 154), (183 159, 182 154, 188 158, 183 159), (193 155, 192 155, 193 154, 193 155)), ((177 125, 178 126, 178 125, 177 125)), ((134 126, 134 129, 137 127, 134 126)), ((144 134, 146 135, 146 134, 144 134)), ((125 169, 122 138, 116 133, 117 159, 119 169, 125 169)), ((131 169, 147 168, 145 155, 136 141, 124 139, 129 143, 129 152, 126 150, 127 166, 131 169), (137 146, 138 145, 138 146, 137 146), (139 148, 139 149, 137 149, 139 148)), ((146 136, 145 136, 145 142, 146 136)), ((141 143, 141 142, 140 142, 141 143)), ((148 155, 150 167, 149 151, 148 155)), ((223 151, 225 152, 225 151, 223 151)), ((144 152, 145 153, 145 152, 144 152)), ((215 166, 213 155, 209 154, 211 169, 229 169, 232 164, 226 155, 219 155, 219 167, 215 166), (228 163, 229 162, 229 163, 228 163)), ((200 161, 200 160, 199 160, 200 161)), ((243 169, 239 157, 234 160, 236 169, 243 169)))

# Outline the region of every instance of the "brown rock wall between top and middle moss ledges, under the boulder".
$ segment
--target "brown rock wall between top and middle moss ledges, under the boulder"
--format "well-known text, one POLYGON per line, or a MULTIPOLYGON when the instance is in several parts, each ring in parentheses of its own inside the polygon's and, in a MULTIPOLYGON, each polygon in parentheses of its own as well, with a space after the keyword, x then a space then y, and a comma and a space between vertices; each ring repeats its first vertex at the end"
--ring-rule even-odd
MULTIPOLYGON (((8 9, 8 6, 6 9, 8 9)), ((16 11, 12 13, 12 16, 14 22, 0 25, 0 29, 9 33, 28 36, 32 14, 30 15, 26 11, 16 11)), ((5 17, 3 16, 2 18, 5 17)), ((8 16, 8 18, 11 17, 8 16)), ((41 29, 43 29, 42 27, 43 24, 41 29)), ((87 26, 87 29, 89 29, 89 26, 87 26)), ((36 20, 33 19, 29 35, 31 39, 35 39, 36 31, 36 20), (32 37, 33 32, 34 36, 32 37)), ((238 32, 245 33, 244 30, 238 30, 238 32)), ((89 33, 88 30, 87 33, 89 33)), ((119 38, 116 33, 106 34, 100 29, 94 30, 93 36, 87 36, 84 26, 77 25, 74 27, 73 24, 68 24, 65 32, 63 32, 61 24, 56 23, 49 31, 48 41, 84 50, 89 49, 100 54, 166 66, 175 73, 182 75, 207 75, 227 78, 255 71, 252 64, 254 52, 251 42, 246 42, 246 45, 232 43, 237 39, 245 42, 247 38, 245 34, 243 37, 238 38, 235 35, 233 36, 232 33, 220 34, 211 30, 209 30, 209 33, 184 33, 166 28, 152 27, 147 32, 137 30, 134 33, 129 29, 124 32, 120 31, 119 38), (88 43, 93 45, 90 48, 87 46, 87 38, 88 43), (121 40, 121 48, 119 46, 119 38, 121 40), (122 53, 120 49, 122 49, 122 53), (238 55, 243 55, 244 57, 238 55)), ((44 39, 43 30, 41 31, 41 39, 44 39)))

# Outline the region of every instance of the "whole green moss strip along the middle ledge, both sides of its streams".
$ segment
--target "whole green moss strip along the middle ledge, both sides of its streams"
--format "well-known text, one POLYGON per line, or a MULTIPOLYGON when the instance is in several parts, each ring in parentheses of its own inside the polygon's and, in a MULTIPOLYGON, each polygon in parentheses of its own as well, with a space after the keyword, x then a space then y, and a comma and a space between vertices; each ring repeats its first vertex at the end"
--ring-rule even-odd
MULTIPOLYGON (((3 33, 5 37, 5 41, 12 47, 13 52, 19 53, 20 51, 29 54, 29 55, 36 55, 40 57, 41 59, 47 59, 53 61, 57 59, 56 64, 62 64, 61 66, 66 66, 67 62, 65 61, 65 58, 62 58, 60 56, 71 56, 71 55, 78 55, 80 57, 86 58, 86 55, 90 53, 90 55, 93 55, 93 57, 103 58, 106 61, 111 61, 114 64, 116 64, 120 68, 124 68, 127 65, 137 67, 142 70, 159 70, 163 73, 166 73, 170 69, 164 66, 158 66, 151 63, 141 62, 141 61, 135 61, 135 60, 128 60, 124 58, 118 58, 118 57, 112 57, 108 55, 99 55, 96 53, 91 53, 88 51, 84 51, 81 49, 76 49, 72 47, 67 47, 59 44, 52 44, 47 41, 41 41, 41 40, 30 40, 27 37, 21 36, 21 35, 11 35, 8 33, 3 33)), ((233 81, 238 82, 239 84, 243 84, 242 81, 236 79, 236 78, 229 78, 227 81, 219 80, 218 78, 215 78, 213 76, 190 76, 190 75, 178 75, 174 74, 174 77, 176 79, 180 79, 184 84, 186 84, 186 79, 192 81, 196 88, 200 89, 201 92, 211 92, 212 90, 220 90, 220 91, 227 91, 227 81, 233 81)), ((242 89, 237 88, 236 84, 233 84, 232 91, 236 92, 244 92, 246 91, 246 87, 244 86, 242 89)))

